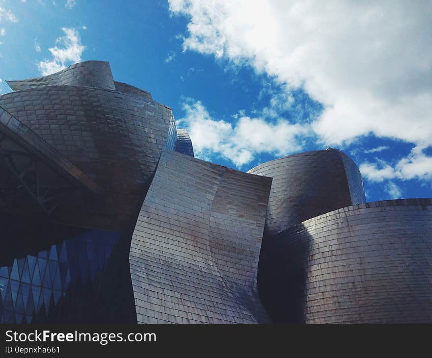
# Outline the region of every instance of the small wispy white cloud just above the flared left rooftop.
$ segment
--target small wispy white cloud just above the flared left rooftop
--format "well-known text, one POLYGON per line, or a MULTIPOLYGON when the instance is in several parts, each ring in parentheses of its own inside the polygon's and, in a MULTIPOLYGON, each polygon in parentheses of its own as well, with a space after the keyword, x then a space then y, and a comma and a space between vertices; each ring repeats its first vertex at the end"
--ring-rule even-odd
POLYGON ((81 54, 85 46, 81 44, 80 34, 75 28, 62 28, 65 36, 59 37, 55 43, 60 47, 48 49, 53 59, 39 62, 38 68, 43 76, 58 72, 68 65, 81 61, 81 54))

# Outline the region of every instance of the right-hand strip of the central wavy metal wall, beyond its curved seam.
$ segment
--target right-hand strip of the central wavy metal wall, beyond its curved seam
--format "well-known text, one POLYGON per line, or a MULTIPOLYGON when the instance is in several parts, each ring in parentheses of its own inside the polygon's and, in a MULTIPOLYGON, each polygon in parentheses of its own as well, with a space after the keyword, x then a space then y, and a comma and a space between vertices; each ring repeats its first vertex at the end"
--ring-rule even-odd
POLYGON ((256 275, 270 184, 270 178, 226 168, 209 225, 210 252, 225 285, 260 323, 269 321, 256 275))

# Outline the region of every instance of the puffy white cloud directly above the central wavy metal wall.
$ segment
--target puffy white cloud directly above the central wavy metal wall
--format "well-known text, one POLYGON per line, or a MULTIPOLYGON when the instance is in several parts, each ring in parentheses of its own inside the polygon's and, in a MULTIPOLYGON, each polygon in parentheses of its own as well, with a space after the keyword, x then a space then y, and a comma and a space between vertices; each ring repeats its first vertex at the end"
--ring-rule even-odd
POLYGON ((235 123, 215 120, 199 101, 187 99, 185 118, 178 127, 188 128, 195 156, 209 160, 214 154, 231 160, 236 166, 252 161, 259 153, 287 155, 301 149, 299 137, 307 129, 279 119, 268 123, 262 118, 237 115, 235 123))

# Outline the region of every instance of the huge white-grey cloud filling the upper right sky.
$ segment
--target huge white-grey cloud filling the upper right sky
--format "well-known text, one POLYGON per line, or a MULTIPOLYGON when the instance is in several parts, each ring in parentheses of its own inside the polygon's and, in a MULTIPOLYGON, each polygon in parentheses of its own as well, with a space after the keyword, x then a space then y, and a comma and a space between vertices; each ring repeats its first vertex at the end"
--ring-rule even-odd
POLYGON ((188 18, 184 50, 267 73, 286 84, 287 105, 289 90, 298 87, 323 103, 310 130, 325 144, 370 133, 432 144, 431 1, 169 0, 169 6, 188 18))

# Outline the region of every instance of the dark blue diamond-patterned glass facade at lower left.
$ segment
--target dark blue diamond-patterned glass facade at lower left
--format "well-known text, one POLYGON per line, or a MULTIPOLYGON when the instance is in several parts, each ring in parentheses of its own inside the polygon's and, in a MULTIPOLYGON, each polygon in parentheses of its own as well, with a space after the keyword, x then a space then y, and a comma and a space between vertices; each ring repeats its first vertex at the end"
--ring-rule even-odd
POLYGON ((119 237, 51 222, 21 230, 25 221, 16 217, 0 222, 1 243, 10 243, 7 251, 16 255, 0 257, 0 323, 56 321, 62 302, 84 297, 97 284, 119 237), (39 251, 28 242, 39 243, 39 251), (20 246, 27 252, 20 252, 20 246))

